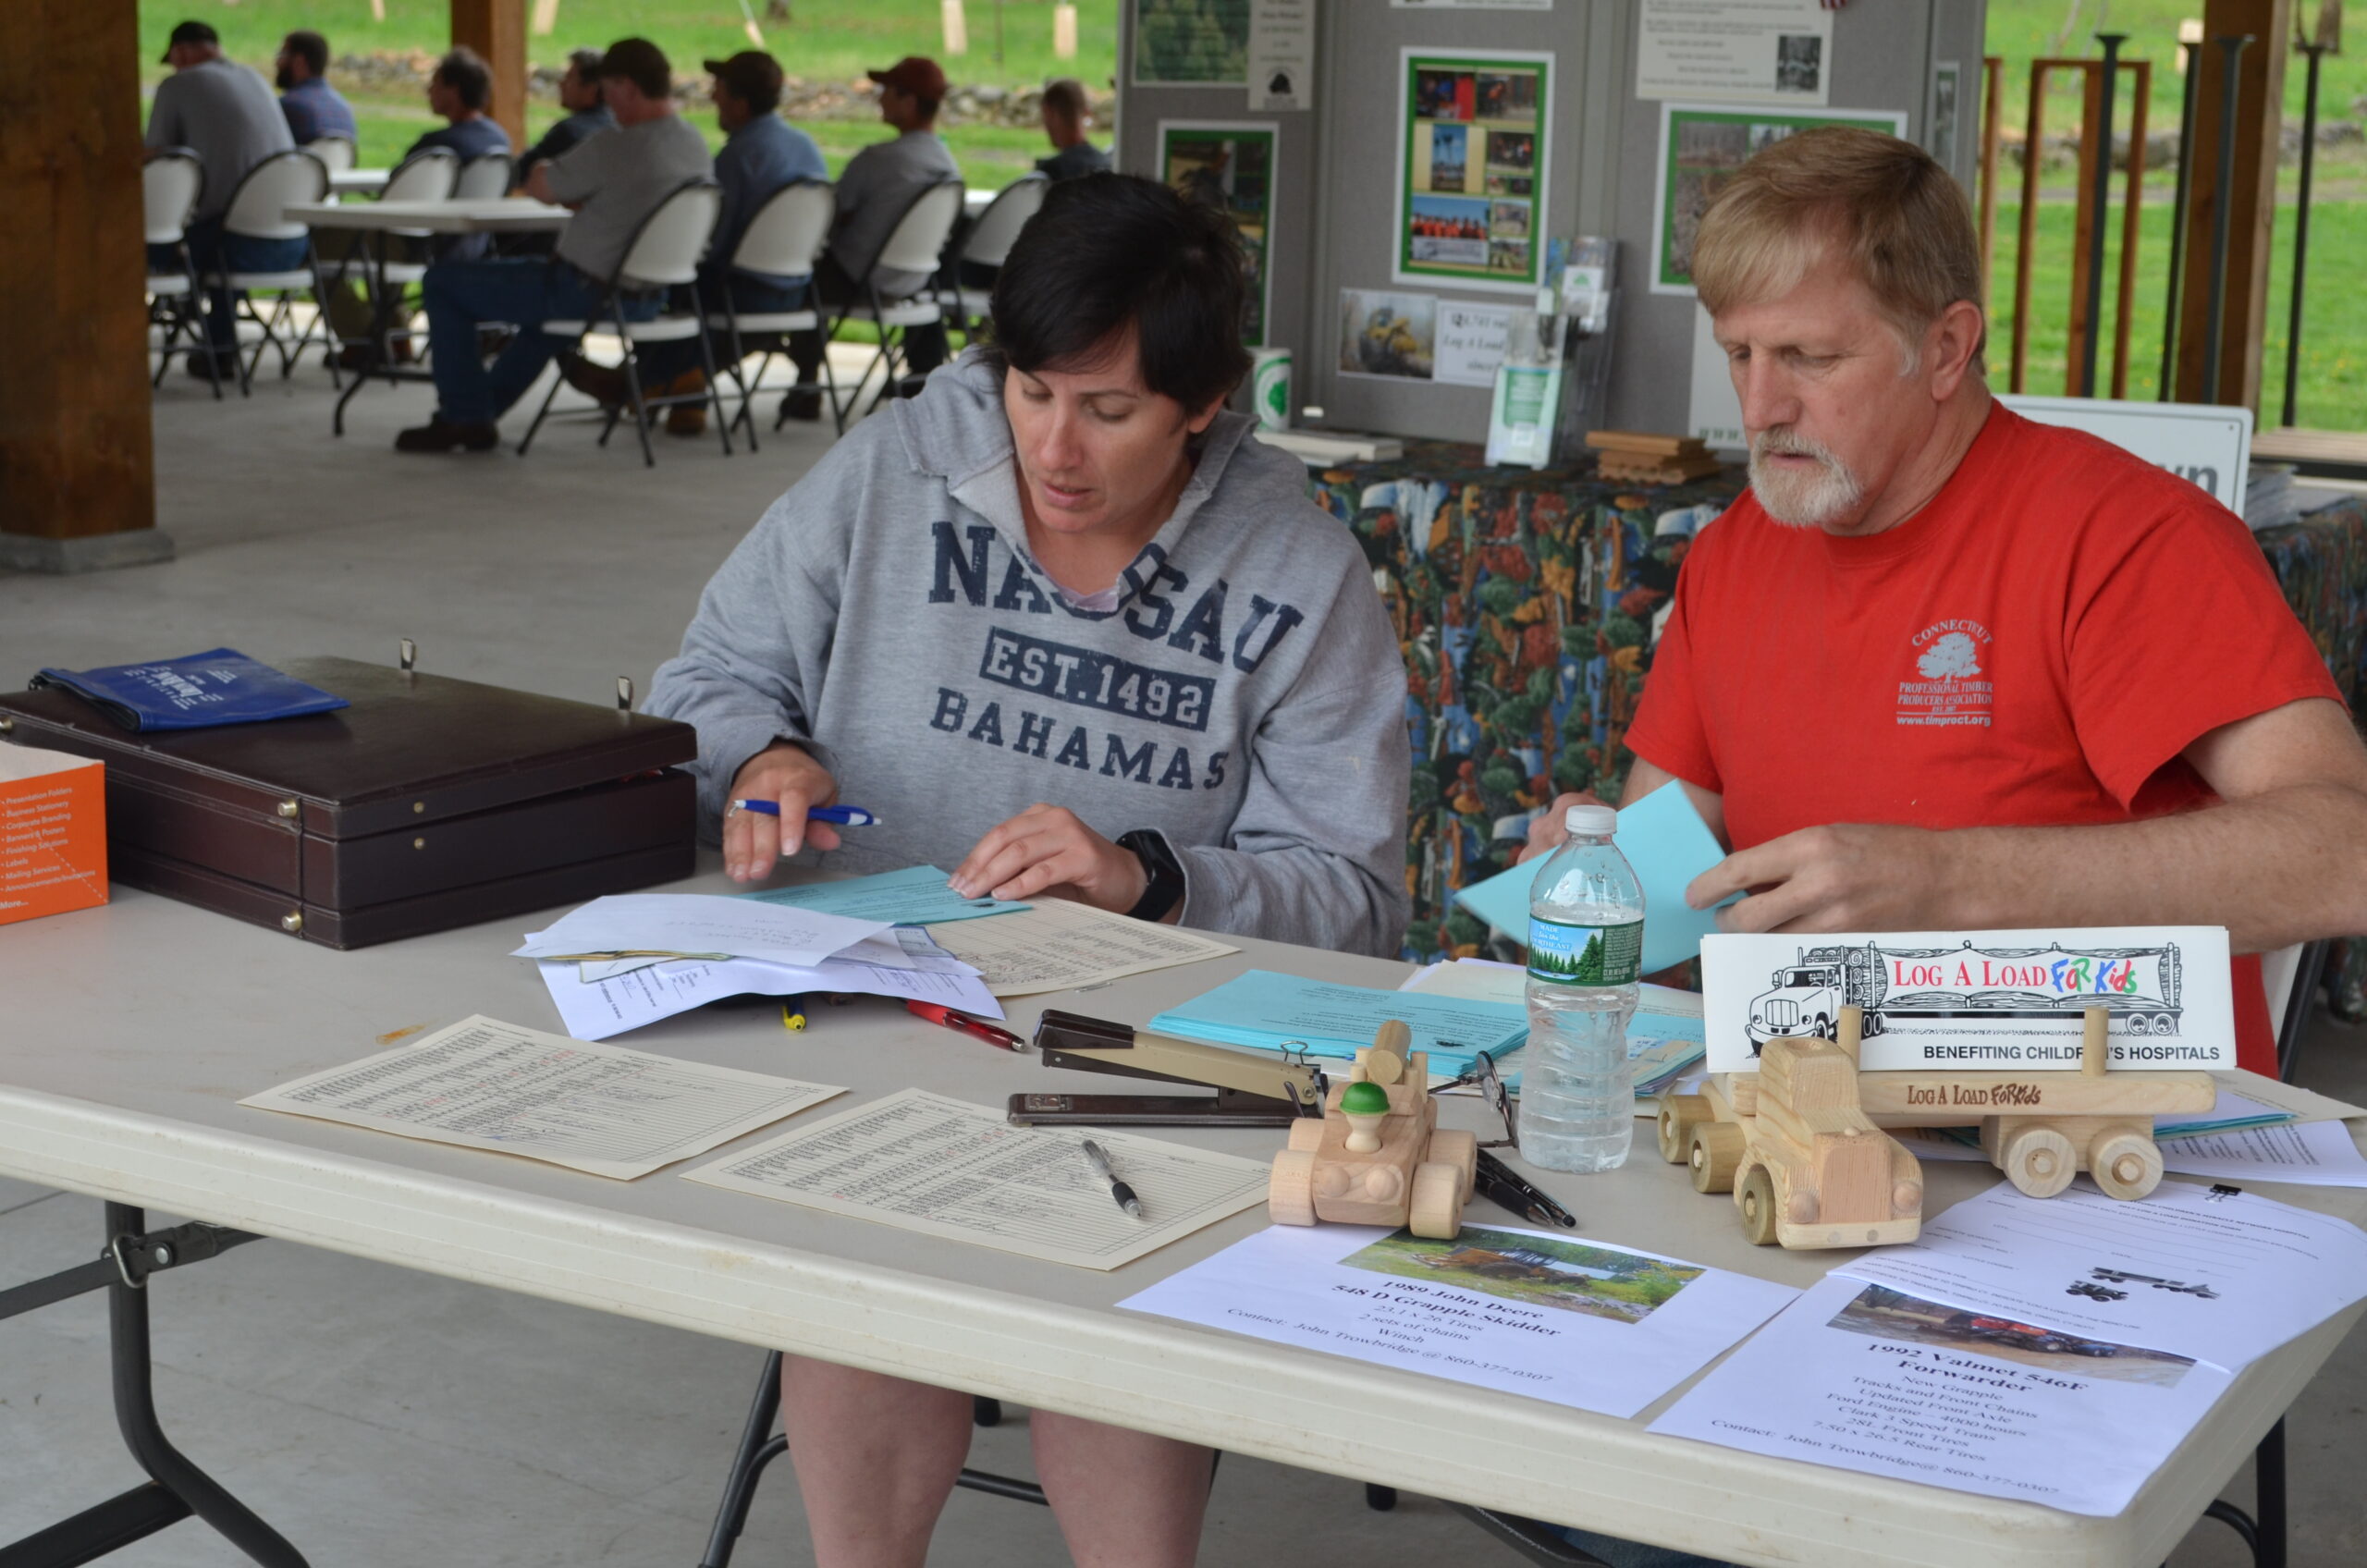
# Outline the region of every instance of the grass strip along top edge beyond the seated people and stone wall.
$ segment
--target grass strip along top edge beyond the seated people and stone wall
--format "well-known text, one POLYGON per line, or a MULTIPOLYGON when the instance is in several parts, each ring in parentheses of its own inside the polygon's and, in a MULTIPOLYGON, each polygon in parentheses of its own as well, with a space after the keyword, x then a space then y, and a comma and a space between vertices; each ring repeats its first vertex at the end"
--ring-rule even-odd
MULTIPOLYGON (((533 0, 509 0, 533 7, 533 0)), ((767 21, 765 0, 750 0, 765 47, 791 76, 850 81, 904 54, 930 54, 956 83, 1039 85, 1077 76, 1105 88, 1117 69, 1117 0, 1077 2, 1077 57, 1053 59, 1053 0, 968 0, 970 52, 944 57, 937 0, 791 0, 791 21, 767 21), (994 59, 994 14, 1004 17, 1004 57, 994 59)), ((533 14, 528 9, 528 14, 533 14)), ((372 21, 369 0, 140 0, 140 62, 149 78, 175 21, 206 21, 232 59, 270 66, 289 28, 312 28, 334 54, 426 50, 452 38, 447 0, 386 0, 386 21, 372 21)), ((535 64, 563 64, 568 50, 606 45, 639 33, 656 40, 677 71, 703 57, 748 47, 736 0, 559 0, 559 26, 525 40, 535 64)))

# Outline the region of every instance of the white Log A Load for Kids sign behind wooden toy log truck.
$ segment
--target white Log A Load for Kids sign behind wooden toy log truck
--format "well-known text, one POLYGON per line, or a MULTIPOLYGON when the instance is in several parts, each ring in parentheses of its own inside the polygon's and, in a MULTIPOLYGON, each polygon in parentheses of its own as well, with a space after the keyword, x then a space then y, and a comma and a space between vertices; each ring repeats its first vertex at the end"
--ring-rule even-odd
POLYGON ((1844 1007, 1877 1071, 2076 1071, 2095 1007, 2116 1073, 2232 1068, 2230 981, 2220 926, 1702 938, 1711 1073, 1754 1071, 1771 1040, 1832 1040, 1844 1007))

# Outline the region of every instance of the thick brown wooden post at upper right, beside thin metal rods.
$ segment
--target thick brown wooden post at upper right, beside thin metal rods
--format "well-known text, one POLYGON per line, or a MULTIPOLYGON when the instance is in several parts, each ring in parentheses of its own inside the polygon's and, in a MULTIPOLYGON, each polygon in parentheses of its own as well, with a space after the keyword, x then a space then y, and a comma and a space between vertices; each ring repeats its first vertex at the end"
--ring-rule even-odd
POLYGON ((2268 237, 2277 213, 2277 142, 2284 107, 2284 52, 2291 47, 2291 0, 2206 0, 2204 38, 2251 33, 2242 57, 2234 159, 2218 166, 2225 88, 2218 50, 2192 52, 2187 71, 2199 73, 2194 135, 2180 147, 2192 159, 2185 232, 2185 287, 2178 301, 2178 400, 2258 407, 2260 341, 2268 327, 2268 237), (2211 208, 2220 185, 2230 189, 2227 324, 2218 386, 2204 386, 2211 336, 2211 208))

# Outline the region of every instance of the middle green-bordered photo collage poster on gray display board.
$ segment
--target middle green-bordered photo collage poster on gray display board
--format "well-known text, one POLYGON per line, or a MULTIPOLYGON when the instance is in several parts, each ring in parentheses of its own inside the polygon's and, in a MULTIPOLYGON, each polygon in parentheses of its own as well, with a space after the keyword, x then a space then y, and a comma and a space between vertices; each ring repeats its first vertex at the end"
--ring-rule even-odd
POLYGON ((1553 54, 1399 50, 1392 282, 1536 289, 1553 54))

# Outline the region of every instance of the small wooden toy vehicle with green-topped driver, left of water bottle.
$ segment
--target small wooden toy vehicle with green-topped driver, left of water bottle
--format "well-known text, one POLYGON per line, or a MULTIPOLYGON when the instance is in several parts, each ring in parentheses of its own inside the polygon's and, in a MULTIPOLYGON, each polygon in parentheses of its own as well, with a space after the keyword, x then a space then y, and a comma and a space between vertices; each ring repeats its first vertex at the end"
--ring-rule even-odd
POLYGON ((1439 1241, 1463 1229, 1479 1139, 1439 1127, 1430 1059, 1411 1045, 1389 1018, 1326 1097, 1323 1118, 1290 1123, 1266 1184, 1276 1225, 1404 1225, 1439 1241))

